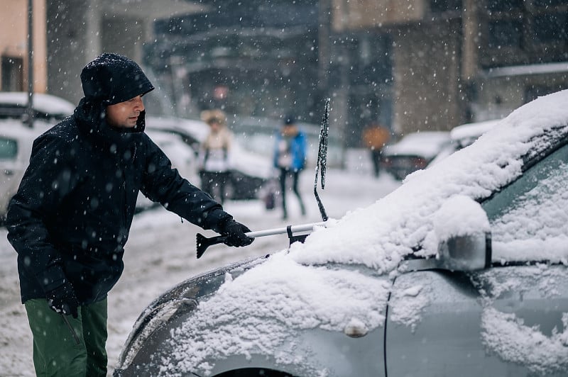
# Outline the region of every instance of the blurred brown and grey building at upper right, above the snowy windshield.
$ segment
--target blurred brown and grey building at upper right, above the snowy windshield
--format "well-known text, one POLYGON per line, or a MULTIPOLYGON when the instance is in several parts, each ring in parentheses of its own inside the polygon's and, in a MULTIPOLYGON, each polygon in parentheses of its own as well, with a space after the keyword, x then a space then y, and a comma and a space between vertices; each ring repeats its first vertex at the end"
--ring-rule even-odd
POLYGON ((369 40, 386 41, 385 55, 373 59, 391 60, 393 69, 392 86, 376 91, 379 108, 371 116, 381 120, 386 110, 398 133, 501 118, 568 88, 567 0, 329 0, 329 6, 329 53, 336 76, 350 77, 351 87, 339 87, 353 135, 361 93, 353 84, 363 78, 369 40), (390 111, 380 108, 383 100, 390 111))

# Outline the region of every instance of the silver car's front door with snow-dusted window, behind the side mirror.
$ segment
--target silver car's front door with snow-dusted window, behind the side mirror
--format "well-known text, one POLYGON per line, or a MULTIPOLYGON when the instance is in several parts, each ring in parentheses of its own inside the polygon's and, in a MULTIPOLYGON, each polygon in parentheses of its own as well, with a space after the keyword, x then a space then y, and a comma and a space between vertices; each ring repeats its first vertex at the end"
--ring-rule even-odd
POLYGON ((491 268, 396 278, 387 376, 567 376, 567 162, 564 146, 481 203, 491 268))

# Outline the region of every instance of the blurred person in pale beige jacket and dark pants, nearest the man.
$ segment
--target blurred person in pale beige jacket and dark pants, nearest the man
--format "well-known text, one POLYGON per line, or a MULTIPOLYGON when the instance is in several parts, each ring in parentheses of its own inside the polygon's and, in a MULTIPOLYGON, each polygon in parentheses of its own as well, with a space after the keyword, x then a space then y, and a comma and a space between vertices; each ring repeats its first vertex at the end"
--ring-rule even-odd
POLYGON ((224 111, 217 109, 202 111, 201 118, 209 125, 209 135, 200 146, 201 188, 223 204, 226 198, 226 181, 231 174, 230 153, 233 134, 226 127, 224 111))

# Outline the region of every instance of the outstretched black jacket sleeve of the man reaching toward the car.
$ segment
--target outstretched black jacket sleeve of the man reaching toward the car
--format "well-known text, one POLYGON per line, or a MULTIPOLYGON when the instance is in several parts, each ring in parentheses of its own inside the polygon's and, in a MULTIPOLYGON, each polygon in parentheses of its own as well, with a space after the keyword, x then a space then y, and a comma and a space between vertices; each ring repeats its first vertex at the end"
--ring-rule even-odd
POLYGON ((146 139, 142 193, 190 223, 219 232, 222 224, 232 216, 211 196, 182 178, 158 145, 149 137, 146 139))

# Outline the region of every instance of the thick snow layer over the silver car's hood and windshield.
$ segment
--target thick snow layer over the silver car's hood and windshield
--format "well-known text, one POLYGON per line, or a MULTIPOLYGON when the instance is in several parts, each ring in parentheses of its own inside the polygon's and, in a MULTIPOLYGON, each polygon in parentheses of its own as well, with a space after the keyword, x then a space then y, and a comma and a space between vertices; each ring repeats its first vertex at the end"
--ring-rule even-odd
MULTIPOLYGON (((396 274, 417 244, 422 244, 422 254, 436 254, 433 223, 443 204, 456 196, 484 198, 519 176, 523 155, 542 150, 546 135, 568 133, 567 101, 568 91, 560 91, 518 108, 473 145, 411 174, 373 205, 329 220, 328 227, 312 232, 304 244, 273 254, 241 276, 226 274, 219 291, 172 330, 172 349, 162 359, 164 373, 197 369, 207 374, 214 367, 210 361, 251 351, 292 362, 287 356, 292 353, 278 347, 296 344, 297 339, 290 339, 295 329, 380 327, 390 286, 386 278, 364 273, 363 266, 396 274), (354 268, 339 269, 337 264, 354 268)), ((420 310, 409 308, 408 313, 420 310)), ((416 315, 402 322, 408 325, 416 315)), ((307 375, 322 373, 309 356, 295 362, 312 368, 307 375)))

